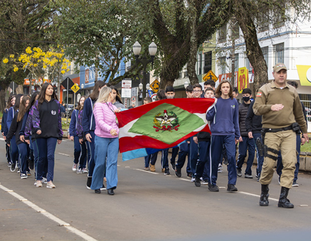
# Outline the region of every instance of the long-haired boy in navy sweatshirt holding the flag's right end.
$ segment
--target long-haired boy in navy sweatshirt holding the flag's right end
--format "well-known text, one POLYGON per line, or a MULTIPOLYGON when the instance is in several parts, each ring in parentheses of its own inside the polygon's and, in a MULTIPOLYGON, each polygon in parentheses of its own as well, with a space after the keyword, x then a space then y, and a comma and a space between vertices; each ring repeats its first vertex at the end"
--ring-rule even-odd
POLYGON ((222 147, 225 145, 228 156, 228 188, 227 191, 238 191, 235 187, 237 173, 235 168, 235 144, 242 141, 239 130, 239 104, 232 96, 232 86, 229 81, 219 83, 215 96, 217 103, 207 112, 211 129, 211 183, 208 190, 219 191, 216 186, 218 163, 220 162, 222 147))

